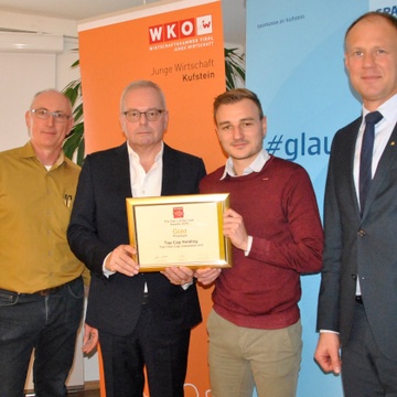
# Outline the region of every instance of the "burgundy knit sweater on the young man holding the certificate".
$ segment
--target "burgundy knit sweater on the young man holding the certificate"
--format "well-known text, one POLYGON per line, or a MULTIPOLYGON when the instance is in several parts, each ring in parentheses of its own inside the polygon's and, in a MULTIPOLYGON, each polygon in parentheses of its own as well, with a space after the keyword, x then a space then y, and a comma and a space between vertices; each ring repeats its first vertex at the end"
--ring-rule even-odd
POLYGON ((300 273, 320 271, 323 233, 305 170, 270 157, 260 172, 219 180, 222 167, 205 176, 201 193, 230 193, 253 246, 233 247, 233 268, 223 269, 213 292, 214 310, 236 325, 273 330, 299 318, 300 273))

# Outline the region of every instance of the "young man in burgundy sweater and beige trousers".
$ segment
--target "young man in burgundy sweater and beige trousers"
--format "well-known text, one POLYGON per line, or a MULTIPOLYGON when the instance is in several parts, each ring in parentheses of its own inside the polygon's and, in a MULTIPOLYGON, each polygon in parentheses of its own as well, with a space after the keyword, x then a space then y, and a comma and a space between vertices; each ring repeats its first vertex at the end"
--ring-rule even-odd
POLYGON ((224 235, 233 268, 201 269, 215 279, 210 314, 213 397, 296 395, 301 361, 300 275, 321 268, 323 233, 308 173, 262 149, 266 117, 248 89, 214 103, 225 167, 201 181, 201 193, 230 193, 224 235))

